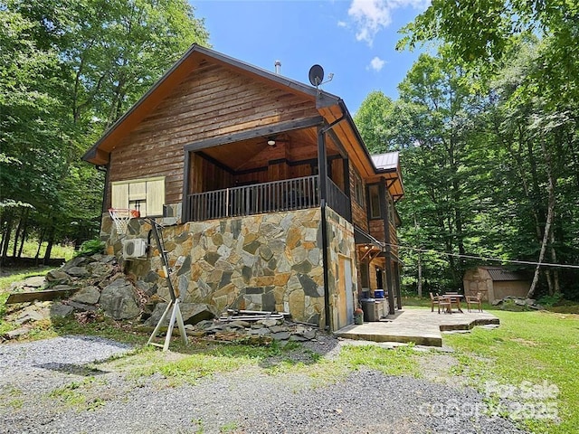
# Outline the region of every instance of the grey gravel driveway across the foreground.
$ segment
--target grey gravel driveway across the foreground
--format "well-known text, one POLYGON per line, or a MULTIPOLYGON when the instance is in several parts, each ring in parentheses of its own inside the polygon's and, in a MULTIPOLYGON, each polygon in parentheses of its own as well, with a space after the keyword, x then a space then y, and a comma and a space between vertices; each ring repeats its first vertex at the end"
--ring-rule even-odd
MULTIPOLYGON (((323 344, 323 353, 339 351, 332 338, 323 344)), ((157 374, 135 379, 107 371, 106 364, 86 366, 128 351, 128 345, 85 336, 0 345, 0 432, 524 432, 477 413, 482 396, 471 389, 371 370, 318 387, 307 375, 259 368, 175 386, 157 374), (54 391, 73 400, 77 388, 88 408, 56 403, 54 391)))

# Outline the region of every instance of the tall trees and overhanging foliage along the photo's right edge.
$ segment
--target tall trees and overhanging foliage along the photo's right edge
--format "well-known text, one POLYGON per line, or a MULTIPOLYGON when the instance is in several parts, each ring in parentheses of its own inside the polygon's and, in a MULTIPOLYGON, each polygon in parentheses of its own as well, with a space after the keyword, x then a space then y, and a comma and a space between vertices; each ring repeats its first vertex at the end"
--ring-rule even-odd
MULTIPOLYGON (((579 4, 566 0, 468 3, 434 0, 412 24, 399 47, 442 41, 457 62, 482 83, 507 74, 517 80, 493 87, 502 113, 498 140, 508 150, 522 180, 530 227, 539 241, 535 259, 558 262, 577 258, 577 196, 569 185, 577 179, 577 113, 579 113, 579 4), (538 42, 536 42, 538 38, 538 42), (526 49, 528 42, 533 52, 526 49), (527 56, 519 56, 523 49, 527 56), (527 51, 527 52, 526 52, 527 51), (509 141, 515 139, 515 141, 509 141), (518 149, 519 152, 515 152, 518 149), (571 217, 564 224, 558 215, 571 217), (571 214, 571 215, 569 215, 571 214), (561 255, 564 254, 564 256, 561 255)), ((479 89, 484 89, 480 87, 479 89)), ((527 244, 528 248, 533 243, 527 244)), ((526 250, 520 250, 525 252, 526 250)), ((574 262, 571 262, 574 263, 574 262)), ((539 283, 535 269, 529 297, 539 283)), ((546 269, 550 292, 559 290, 558 272, 546 269)), ((565 272, 566 281, 573 278, 565 272)), ((565 290, 579 293, 576 284, 565 290), (574 289, 573 289, 574 288, 574 289)))

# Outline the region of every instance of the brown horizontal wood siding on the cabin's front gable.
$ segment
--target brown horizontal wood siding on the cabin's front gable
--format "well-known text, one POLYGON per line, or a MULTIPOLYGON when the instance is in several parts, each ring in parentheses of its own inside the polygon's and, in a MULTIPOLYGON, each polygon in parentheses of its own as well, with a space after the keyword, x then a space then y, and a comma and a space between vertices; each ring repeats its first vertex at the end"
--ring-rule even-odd
MULTIPOLYGON (((166 203, 178 203, 185 145, 316 116, 311 100, 207 61, 115 146, 110 155, 110 181, 166 176, 166 203)), ((199 182, 195 175, 191 178, 192 184, 199 182)), ((215 184, 223 182, 220 178, 215 184)))

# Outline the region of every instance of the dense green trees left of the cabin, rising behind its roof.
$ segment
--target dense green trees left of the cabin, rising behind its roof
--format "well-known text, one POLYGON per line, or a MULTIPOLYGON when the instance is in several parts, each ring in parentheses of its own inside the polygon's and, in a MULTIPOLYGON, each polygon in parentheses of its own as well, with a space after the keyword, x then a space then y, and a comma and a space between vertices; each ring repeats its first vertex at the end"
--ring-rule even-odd
MULTIPOLYGON (((203 20, 185 0, 9 0, 0 16, 1 200, 33 205, 30 227, 49 246, 91 238, 103 176, 82 154, 193 42, 206 44, 203 20)), ((27 211, 3 209, 6 253, 27 211)))

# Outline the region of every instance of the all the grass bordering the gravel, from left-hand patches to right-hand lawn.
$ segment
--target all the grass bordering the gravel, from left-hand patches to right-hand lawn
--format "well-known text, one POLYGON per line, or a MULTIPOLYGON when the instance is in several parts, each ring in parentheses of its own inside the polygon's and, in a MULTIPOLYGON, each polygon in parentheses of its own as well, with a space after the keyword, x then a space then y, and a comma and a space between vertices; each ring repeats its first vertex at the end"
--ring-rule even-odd
MULTIPOLYGON (((5 321, 4 301, 10 284, 48 269, 23 271, 0 278, 0 333, 14 327, 5 321)), ((430 307, 430 301, 406 300, 406 306, 430 307)), ((305 374, 320 385, 336 382, 360 367, 390 375, 430 378, 432 370, 451 383, 466 383, 487 395, 489 409, 517 420, 521 428, 536 433, 573 433, 579 427, 579 315, 555 312, 508 312, 485 306, 500 318, 500 326, 475 327, 470 334, 444 335, 454 353, 417 353, 411 346, 395 350, 375 345, 346 345, 335 358, 313 354, 299 344, 251 346, 210 344, 182 346, 178 339, 171 353, 146 347, 148 333, 134 325, 100 316, 79 325, 74 319, 37 324, 27 339, 55 335, 100 335, 137 345, 137 350, 111 360, 107 369, 135 378, 161 373, 170 382, 195 382, 206 375, 238 369, 262 370, 271 375, 305 374), (492 385, 492 392, 489 386, 492 385), (532 393, 535 396, 530 396, 532 393), (537 395, 549 392, 549 396, 537 395), (510 401, 500 397, 514 393, 510 401), (527 396, 518 396, 527 393, 527 396), (556 416, 556 418, 551 418, 556 416)))

